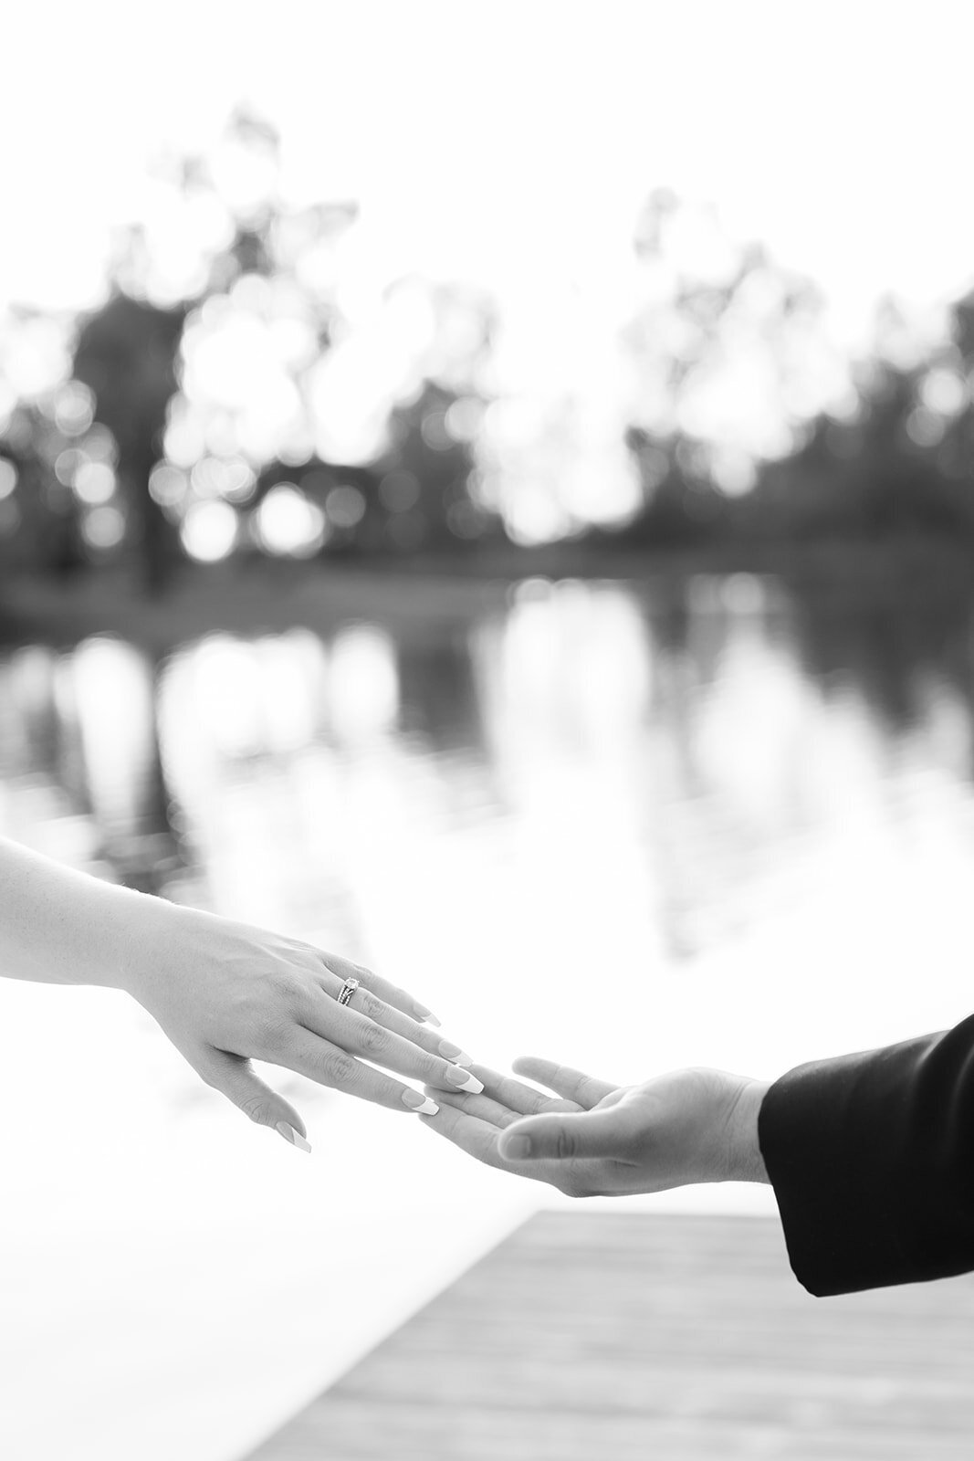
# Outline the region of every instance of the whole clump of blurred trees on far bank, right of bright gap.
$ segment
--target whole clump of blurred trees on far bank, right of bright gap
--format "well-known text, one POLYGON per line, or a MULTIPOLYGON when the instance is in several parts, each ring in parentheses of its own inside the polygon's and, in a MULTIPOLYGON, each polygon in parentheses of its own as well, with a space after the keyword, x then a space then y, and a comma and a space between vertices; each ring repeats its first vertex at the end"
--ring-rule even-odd
MULTIPOLYGON (((654 196, 637 240, 664 276, 675 218, 679 203, 654 196)), ((650 424, 626 434, 643 507, 622 541, 974 539, 974 294, 952 305, 932 342, 885 300, 873 351, 850 362, 847 381, 828 356, 822 313, 815 288, 761 250, 726 259, 717 282, 670 270, 634 330, 650 367, 650 424), (753 440, 753 428, 751 441, 746 428, 723 440, 718 413, 704 424, 695 408, 707 389, 746 405, 730 377, 753 367, 755 336, 762 368, 751 374, 777 400, 765 422, 780 440, 753 440)))

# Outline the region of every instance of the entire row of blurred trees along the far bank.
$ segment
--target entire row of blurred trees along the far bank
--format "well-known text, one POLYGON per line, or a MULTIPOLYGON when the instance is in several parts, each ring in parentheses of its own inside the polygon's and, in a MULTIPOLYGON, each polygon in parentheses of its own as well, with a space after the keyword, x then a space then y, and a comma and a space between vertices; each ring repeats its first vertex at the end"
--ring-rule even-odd
MULTIPOLYGON (((245 110, 213 156, 161 159, 155 181, 96 310, 4 321, 0 568, 129 564, 153 592, 187 558, 524 541, 511 492, 556 492, 584 412, 571 394, 510 409, 489 294, 407 276, 362 308, 356 205, 286 202, 277 136, 245 110)), ((635 506, 610 526, 565 517, 564 536, 742 557, 974 538, 974 294, 933 336, 886 301, 848 361, 813 283, 713 209, 657 190, 634 247, 616 437, 635 506)))

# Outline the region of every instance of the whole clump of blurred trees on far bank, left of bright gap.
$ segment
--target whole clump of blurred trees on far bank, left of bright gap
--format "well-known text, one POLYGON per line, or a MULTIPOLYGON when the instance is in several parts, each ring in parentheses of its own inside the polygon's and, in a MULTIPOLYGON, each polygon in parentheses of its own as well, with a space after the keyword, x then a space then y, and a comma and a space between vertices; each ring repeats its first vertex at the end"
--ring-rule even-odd
MULTIPOLYGON (((285 205, 276 134, 247 111, 222 155, 158 171, 164 216, 120 237, 104 304, 60 321, 60 378, 18 392, 7 373, 0 389, 0 565, 130 562, 152 592, 187 557, 463 551, 496 535, 472 497, 489 298, 397 281, 372 359, 336 380, 333 355, 362 355, 334 259, 356 206, 285 205)), ((7 321, 0 371, 44 323, 7 321)))

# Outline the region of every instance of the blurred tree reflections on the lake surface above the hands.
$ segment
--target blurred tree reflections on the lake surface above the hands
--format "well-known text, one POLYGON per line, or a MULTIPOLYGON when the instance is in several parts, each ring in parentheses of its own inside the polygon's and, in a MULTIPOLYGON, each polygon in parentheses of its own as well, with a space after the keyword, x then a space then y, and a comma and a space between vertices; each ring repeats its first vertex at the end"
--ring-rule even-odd
POLYGON ((850 817, 968 805, 970 643, 956 603, 736 574, 529 580, 473 622, 207 634, 161 662, 25 646, 0 662, 0 825, 364 957, 416 925, 404 900, 472 910, 515 869, 524 919, 602 906, 680 958, 800 899, 850 817))

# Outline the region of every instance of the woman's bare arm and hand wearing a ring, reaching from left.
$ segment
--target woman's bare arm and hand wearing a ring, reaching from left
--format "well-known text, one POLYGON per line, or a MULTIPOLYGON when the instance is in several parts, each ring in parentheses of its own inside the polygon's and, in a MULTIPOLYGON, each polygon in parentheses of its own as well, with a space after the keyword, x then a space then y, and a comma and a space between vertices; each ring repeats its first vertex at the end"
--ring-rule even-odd
POLYGON ((251 1058, 393 1110, 435 1105, 365 1061, 437 1090, 483 1088, 412 995, 310 944, 115 887, 6 839, 0 909, 0 974, 127 989, 209 1086, 295 1145, 307 1147, 304 1122, 251 1058), (339 1005, 346 977, 362 988, 339 1005))

